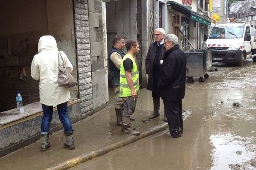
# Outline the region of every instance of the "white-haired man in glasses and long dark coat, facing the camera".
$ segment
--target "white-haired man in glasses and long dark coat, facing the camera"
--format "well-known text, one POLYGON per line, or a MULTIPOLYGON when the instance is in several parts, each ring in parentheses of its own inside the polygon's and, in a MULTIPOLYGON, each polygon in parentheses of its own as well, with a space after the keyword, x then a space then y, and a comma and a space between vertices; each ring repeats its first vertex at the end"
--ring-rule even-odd
MULTIPOLYGON (((154 119, 158 116, 160 110, 160 95, 157 89, 159 79, 160 60, 163 58, 165 48, 163 47, 165 31, 163 28, 157 28, 154 31, 155 42, 149 46, 148 53, 145 59, 146 73, 148 74, 147 89, 152 91, 154 111, 148 119, 154 119)), ((166 115, 164 121, 167 122, 166 115)))

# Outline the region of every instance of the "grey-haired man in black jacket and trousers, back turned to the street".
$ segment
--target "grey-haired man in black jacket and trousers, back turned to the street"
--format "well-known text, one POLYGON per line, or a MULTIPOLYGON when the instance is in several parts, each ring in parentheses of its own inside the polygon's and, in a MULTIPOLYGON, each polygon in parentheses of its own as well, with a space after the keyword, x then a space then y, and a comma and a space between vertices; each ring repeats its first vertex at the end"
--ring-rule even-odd
POLYGON ((183 133, 182 101, 186 87, 186 57, 174 34, 165 37, 163 60, 160 61, 158 89, 163 99, 171 136, 178 138, 183 133))

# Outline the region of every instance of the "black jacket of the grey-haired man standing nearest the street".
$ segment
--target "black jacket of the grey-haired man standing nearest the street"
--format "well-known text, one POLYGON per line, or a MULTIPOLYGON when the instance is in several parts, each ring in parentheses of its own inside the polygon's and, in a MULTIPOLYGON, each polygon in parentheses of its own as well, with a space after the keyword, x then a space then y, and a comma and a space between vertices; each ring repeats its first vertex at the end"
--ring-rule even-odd
POLYGON ((163 100, 183 99, 186 87, 186 57, 179 45, 164 53, 160 65, 159 94, 163 100))

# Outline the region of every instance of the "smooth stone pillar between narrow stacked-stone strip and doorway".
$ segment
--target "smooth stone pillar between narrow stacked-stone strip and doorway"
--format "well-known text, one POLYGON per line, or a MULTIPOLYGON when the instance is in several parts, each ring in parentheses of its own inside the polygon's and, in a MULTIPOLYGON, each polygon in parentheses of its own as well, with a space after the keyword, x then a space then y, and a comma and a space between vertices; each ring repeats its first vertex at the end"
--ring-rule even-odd
POLYGON ((99 111, 108 105, 108 62, 105 3, 88 0, 90 50, 92 62, 93 110, 99 111))

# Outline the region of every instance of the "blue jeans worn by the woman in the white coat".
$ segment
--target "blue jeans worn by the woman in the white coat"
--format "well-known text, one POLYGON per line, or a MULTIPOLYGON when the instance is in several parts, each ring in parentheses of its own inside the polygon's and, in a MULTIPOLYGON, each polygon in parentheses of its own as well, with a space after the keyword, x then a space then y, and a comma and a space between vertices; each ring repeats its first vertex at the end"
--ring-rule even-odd
MULTIPOLYGON (((50 123, 52 122, 53 107, 42 104, 42 108, 44 111, 44 116, 42 118, 42 123, 41 123, 41 134, 43 135, 43 134, 48 134, 50 131, 50 123)), ((57 105, 57 110, 58 110, 59 119, 64 127, 64 132, 67 132, 67 133, 72 132, 73 129, 72 129, 70 117, 68 116, 68 113, 67 113, 67 102, 57 105)))

